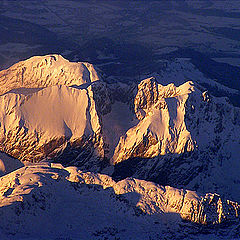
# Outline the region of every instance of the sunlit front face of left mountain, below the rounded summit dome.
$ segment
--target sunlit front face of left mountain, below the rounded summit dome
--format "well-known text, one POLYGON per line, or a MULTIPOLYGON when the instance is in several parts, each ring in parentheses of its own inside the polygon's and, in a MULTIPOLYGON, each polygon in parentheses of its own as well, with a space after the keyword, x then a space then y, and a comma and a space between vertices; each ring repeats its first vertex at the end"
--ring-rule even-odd
POLYGON ((52 86, 27 96, 8 93, 0 96, 0 109, 0 149, 21 161, 54 157, 69 141, 80 147, 101 130, 91 86, 52 86))

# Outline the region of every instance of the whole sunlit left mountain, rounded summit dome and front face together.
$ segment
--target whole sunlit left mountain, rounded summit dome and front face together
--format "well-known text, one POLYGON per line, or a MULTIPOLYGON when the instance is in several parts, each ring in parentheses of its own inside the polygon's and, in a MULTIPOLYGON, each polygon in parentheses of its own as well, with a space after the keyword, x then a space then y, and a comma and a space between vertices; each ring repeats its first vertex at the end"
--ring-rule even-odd
POLYGON ((89 86, 98 80, 91 64, 59 55, 32 57, 1 71, 0 149, 22 162, 37 162, 56 156, 71 140, 71 146, 88 146, 87 155, 96 150, 102 156, 89 86))

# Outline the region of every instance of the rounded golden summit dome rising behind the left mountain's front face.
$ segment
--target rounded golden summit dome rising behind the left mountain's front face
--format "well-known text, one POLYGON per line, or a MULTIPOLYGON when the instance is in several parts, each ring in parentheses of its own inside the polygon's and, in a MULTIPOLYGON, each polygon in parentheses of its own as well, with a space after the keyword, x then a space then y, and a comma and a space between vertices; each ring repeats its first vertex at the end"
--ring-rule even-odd
POLYGON ((92 64, 69 62, 61 55, 34 56, 0 72, 0 95, 13 89, 82 85, 99 80, 92 64))

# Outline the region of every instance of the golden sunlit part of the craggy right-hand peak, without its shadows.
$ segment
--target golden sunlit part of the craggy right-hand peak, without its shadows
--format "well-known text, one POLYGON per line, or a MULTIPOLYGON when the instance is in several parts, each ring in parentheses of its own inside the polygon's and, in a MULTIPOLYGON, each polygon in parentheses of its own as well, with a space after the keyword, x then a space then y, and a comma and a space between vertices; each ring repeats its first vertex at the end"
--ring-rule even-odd
POLYGON ((193 91, 191 82, 176 87, 162 86, 152 78, 143 80, 134 99, 139 123, 121 137, 113 162, 193 150, 191 134, 184 122, 185 103, 193 91))

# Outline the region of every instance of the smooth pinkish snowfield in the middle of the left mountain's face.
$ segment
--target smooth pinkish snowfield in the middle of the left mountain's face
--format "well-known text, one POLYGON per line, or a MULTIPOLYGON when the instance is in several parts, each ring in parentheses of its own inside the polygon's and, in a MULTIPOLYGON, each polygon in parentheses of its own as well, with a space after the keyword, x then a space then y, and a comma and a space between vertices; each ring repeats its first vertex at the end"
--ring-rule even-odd
POLYGON ((75 138, 92 131, 86 128, 91 126, 86 118, 88 104, 86 90, 53 86, 33 94, 21 104, 19 111, 30 131, 37 129, 49 138, 63 135, 75 138))

